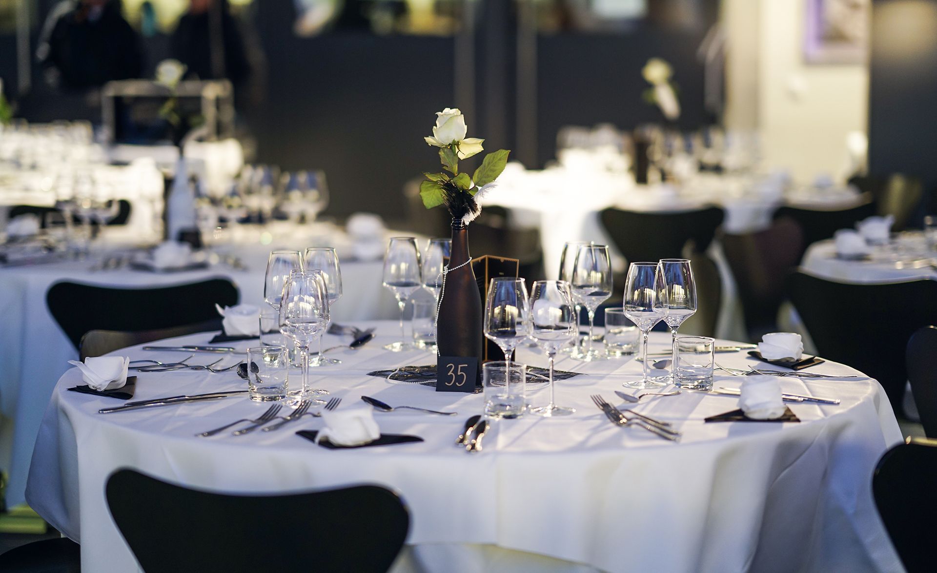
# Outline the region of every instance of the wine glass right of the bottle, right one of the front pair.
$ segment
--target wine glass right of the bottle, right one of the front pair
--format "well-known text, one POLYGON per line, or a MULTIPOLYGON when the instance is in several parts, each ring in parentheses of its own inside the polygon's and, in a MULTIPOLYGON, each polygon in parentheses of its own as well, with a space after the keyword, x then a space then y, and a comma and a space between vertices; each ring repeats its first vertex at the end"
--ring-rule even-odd
POLYGON ((553 359, 560 348, 577 336, 579 325, 573 316, 573 296, 565 280, 537 280, 530 290, 530 336, 537 340, 550 359, 550 403, 534 408, 536 415, 570 415, 573 408, 558 406, 554 400, 553 359))

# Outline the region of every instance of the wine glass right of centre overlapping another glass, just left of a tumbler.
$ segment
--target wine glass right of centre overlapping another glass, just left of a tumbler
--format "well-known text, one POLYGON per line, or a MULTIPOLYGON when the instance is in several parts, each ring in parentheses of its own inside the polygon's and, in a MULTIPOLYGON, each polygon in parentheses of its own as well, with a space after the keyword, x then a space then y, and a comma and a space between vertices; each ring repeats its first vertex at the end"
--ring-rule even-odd
POLYGON ((583 245, 576 253, 573 263, 573 300, 586 307, 588 312, 588 348, 585 352, 573 356, 579 360, 591 362, 605 360, 608 353, 593 348, 592 330, 595 324, 595 310, 612 295, 612 261, 606 245, 583 245))

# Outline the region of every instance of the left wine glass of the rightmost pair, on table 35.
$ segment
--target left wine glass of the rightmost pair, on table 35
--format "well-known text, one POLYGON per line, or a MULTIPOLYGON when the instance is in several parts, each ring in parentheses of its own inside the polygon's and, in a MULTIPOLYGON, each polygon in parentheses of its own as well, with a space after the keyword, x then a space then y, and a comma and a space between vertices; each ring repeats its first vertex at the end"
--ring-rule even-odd
POLYGON ((667 290, 663 283, 661 265, 657 263, 632 263, 625 280, 623 307, 625 316, 637 325, 644 335, 641 343, 641 360, 644 377, 634 382, 625 382, 629 388, 657 388, 665 384, 647 377, 647 333, 654 324, 661 322, 667 313, 667 290))

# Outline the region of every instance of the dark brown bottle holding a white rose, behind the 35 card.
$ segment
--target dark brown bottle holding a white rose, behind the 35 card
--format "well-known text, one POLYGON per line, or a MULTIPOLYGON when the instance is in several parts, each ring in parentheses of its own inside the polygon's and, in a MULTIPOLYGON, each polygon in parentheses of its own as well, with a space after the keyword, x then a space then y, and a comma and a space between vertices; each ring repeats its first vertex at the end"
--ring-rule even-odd
POLYGON ((468 228, 453 220, 453 248, 439 303, 436 343, 440 356, 478 357, 482 370, 482 294, 468 261, 468 228), (455 268, 455 267, 459 268, 455 268))

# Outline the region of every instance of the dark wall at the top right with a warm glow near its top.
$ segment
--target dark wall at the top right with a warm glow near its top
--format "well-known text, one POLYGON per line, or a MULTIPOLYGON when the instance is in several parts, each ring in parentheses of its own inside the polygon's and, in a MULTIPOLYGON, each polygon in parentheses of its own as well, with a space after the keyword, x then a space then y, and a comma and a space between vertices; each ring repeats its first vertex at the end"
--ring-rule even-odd
POLYGON ((875 0, 869 91, 869 162, 937 188, 937 1, 875 0))

